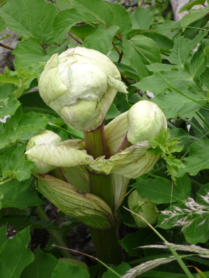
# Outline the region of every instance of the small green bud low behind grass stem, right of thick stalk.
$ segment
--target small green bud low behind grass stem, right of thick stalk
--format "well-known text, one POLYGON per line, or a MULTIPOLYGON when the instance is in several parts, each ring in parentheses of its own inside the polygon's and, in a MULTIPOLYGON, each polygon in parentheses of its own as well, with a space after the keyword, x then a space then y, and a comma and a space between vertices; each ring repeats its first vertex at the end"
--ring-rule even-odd
MULTIPOLYGON (((127 204, 131 211, 140 215, 149 224, 154 225, 157 222, 159 213, 156 204, 150 202, 148 199, 142 199, 137 193, 137 190, 134 190, 130 194, 127 199, 127 204)), ((132 215, 137 226, 141 228, 148 227, 148 224, 134 213, 132 213, 132 215)))

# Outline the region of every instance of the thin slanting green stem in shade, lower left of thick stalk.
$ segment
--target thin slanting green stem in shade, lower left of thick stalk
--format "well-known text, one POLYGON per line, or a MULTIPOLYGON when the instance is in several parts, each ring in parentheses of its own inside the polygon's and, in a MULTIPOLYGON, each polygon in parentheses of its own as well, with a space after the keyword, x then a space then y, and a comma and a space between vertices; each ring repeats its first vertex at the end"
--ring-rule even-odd
MULTIPOLYGON (((41 205, 37 206, 36 213, 38 214, 38 216, 40 217, 41 220, 50 221, 47 214, 45 213, 45 211, 43 210, 41 205)), ((52 236, 56 245, 67 248, 67 246, 65 245, 65 243, 64 243, 63 239, 61 238, 58 231, 52 230, 52 229, 47 229, 47 231, 49 232, 50 236, 52 236)), ((69 250, 60 248, 60 252, 61 252, 61 254, 63 255, 64 258, 73 259, 73 256, 72 256, 72 254, 70 253, 69 250)))

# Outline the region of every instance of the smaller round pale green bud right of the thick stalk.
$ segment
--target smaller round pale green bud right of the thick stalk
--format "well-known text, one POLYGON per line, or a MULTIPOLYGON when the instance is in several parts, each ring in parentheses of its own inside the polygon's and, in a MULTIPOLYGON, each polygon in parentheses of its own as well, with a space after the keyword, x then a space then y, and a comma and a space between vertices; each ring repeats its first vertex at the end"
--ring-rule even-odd
POLYGON ((134 104, 127 113, 127 140, 132 145, 157 137, 160 129, 167 129, 167 120, 161 109, 151 101, 134 104))

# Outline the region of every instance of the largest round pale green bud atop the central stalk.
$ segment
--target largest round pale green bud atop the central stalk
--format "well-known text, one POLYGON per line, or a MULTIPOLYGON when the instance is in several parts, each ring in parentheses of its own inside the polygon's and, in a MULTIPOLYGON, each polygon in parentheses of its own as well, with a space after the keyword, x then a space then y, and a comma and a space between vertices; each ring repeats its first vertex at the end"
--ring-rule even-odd
POLYGON ((40 97, 75 129, 93 131, 106 117, 117 90, 127 93, 116 65, 93 49, 54 54, 38 84, 40 97))

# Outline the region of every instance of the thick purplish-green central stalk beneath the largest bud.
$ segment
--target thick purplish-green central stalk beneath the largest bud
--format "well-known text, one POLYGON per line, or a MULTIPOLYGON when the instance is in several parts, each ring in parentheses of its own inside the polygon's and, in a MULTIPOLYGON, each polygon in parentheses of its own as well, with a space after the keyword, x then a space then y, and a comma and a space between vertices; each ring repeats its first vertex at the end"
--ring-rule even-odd
MULTIPOLYGON (((92 132, 84 131, 86 151, 93 158, 105 156, 109 158, 109 152, 104 134, 104 122, 98 129, 92 132)), ((99 172, 88 169, 88 177, 90 182, 90 192, 93 195, 100 197, 106 202, 111 211, 114 211, 114 196, 111 186, 111 176, 101 174, 99 172)), ((90 228, 91 237, 93 239, 95 252, 100 261, 107 264, 118 265, 123 260, 123 250, 118 243, 117 224, 111 229, 93 229, 90 228)), ((105 270, 101 265, 102 272, 105 270)))

